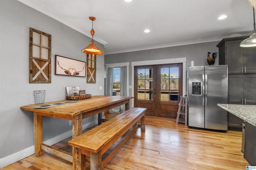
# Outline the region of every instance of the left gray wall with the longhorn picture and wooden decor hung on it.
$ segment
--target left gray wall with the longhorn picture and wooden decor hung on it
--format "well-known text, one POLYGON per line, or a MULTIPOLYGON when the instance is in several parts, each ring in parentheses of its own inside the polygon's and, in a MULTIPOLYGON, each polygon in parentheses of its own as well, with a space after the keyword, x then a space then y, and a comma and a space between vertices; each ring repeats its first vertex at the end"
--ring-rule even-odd
MULTIPOLYGON (((66 86, 80 86, 87 94, 104 95, 104 90, 99 90, 104 87, 104 55, 97 56, 96 84, 86 83, 85 77, 54 75, 56 54, 86 61, 81 49, 90 41, 16 0, 0 0, 0 165, 6 156, 34 145, 33 113, 20 110, 20 106, 34 103, 33 90, 46 90, 45 102, 65 99, 66 86), (52 35, 52 83, 28 83, 30 27, 52 35)), ((97 42, 96 45, 104 49, 97 42)), ((83 124, 94 120, 96 117, 83 124)), ((43 140, 70 131, 71 127, 67 120, 44 117, 43 140)))

